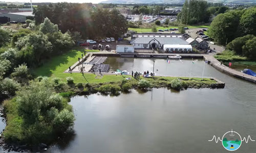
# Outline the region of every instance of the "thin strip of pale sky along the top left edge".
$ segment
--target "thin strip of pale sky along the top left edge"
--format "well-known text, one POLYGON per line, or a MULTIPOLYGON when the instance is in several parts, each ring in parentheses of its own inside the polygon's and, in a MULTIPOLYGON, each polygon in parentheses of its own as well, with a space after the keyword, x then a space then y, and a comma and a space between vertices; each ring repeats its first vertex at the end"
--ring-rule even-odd
MULTIPOLYGON (((99 3, 105 0, 32 0, 32 3, 41 3, 41 2, 51 2, 51 3, 58 3, 58 2, 71 2, 71 3, 99 3)), ((30 0, 0 0, 0 2, 24 2, 29 3, 30 0)))

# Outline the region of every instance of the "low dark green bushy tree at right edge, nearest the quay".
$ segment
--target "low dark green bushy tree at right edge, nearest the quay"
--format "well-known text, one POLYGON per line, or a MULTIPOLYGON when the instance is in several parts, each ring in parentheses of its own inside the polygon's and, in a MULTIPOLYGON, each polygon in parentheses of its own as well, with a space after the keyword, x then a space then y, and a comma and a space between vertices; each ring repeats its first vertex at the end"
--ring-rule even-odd
POLYGON ((250 59, 256 59, 256 37, 246 41, 243 46, 243 55, 250 59))

